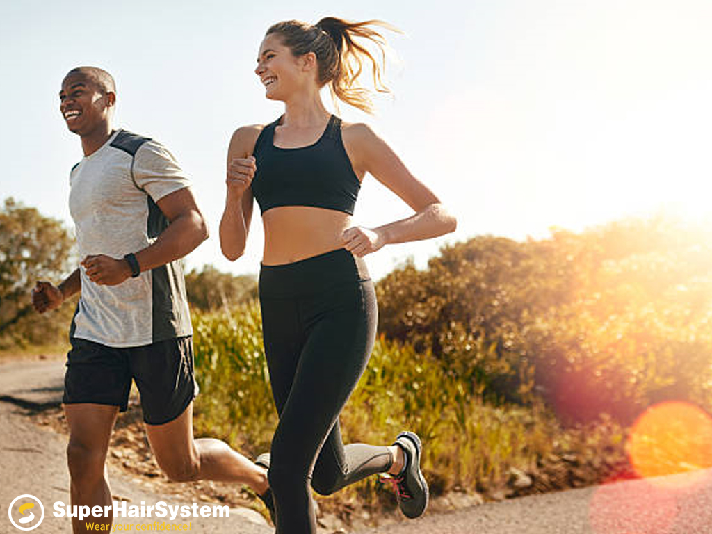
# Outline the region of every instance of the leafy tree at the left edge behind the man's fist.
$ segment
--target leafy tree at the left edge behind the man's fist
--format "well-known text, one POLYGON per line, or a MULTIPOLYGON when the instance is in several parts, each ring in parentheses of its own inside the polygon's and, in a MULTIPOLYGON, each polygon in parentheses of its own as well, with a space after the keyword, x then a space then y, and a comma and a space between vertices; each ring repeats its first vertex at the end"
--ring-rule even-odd
MULTIPOLYGON (((46 343, 57 318, 37 320, 30 292, 38 280, 58 281, 68 272, 73 239, 61 221, 9 198, 0 210, 0 341, 46 343)), ((66 315, 64 313, 63 315, 66 315)), ((54 342, 55 340, 52 340, 54 342)))

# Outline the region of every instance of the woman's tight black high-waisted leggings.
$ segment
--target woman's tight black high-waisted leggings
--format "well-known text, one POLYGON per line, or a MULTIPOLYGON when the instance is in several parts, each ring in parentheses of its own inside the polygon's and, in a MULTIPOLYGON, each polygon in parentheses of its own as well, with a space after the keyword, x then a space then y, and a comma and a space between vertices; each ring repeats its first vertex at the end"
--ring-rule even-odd
POLYGON ((259 294, 280 417, 268 473, 277 533, 314 534, 310 485, 329 495, 392 465, 385 446, 344 446, 338 421, 373 348, 376 295, 363 260, 343 248, 262 266, 259 294))

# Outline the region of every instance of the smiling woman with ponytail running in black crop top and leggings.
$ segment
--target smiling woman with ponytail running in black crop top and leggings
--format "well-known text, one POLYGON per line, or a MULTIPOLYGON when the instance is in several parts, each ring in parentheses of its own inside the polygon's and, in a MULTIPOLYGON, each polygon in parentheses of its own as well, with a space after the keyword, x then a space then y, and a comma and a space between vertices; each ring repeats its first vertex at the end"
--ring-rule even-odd
POLYGON ((375 340, 375 292, 362 257, 456 226, 367 125, 342 123, 322 103, 320 89, 328 84, 343 102, 370 111, 368 93, 355 81, 370 64, 376 88, 384 90, 381 66, 355 38, 382 47, 375 25, 385 26, 328 17, 314 26, 285 21, 269 28, 255 73, 285 112, 265 127, 236 130, 228 151, 222 251, 230 260, 244 253, 253 199, 265 233, 259 295, 280 421, 271 456, 261 463, 269 468, 281 534, 316 532, 310 484, 330 494, 387 472, 405 515, 418 517, 428 501, 417 435, 402 432, 392 446, 344 446, 338 423, 375 340), (416 213, 375 229, 352 226, 367 172, 416 213))

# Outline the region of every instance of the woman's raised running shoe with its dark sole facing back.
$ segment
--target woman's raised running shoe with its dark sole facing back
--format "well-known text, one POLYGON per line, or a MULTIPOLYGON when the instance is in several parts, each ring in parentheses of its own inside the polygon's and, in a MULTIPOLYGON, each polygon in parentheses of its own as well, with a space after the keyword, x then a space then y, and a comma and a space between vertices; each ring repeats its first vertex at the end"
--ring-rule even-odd
POLYGON ((420 471, 420 456, 423 446, 413 432, 398 434, 394 445, 405 453, 405 466, 398 475, 382 478, 392 483, 398 506, 407 518, 420 517, 428 506, 428 483, 420 471))

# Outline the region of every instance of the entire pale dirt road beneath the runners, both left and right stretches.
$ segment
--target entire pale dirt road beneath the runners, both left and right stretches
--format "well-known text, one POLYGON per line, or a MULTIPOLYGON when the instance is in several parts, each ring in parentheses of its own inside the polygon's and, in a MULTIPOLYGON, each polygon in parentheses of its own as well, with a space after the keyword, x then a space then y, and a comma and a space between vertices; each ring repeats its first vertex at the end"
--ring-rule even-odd
MULTIPOLYGON (((36 496, 45 506, 38 534, 68 533, 66 518, 53 516, 53 503, 68 504, 66 437, 32 424, 31 410, 58 406, 62 362, 10 362, 0 365, 0 534, 18 533, 8 506, 19 495, 36 496)), ((152 491, 145 480, 110 469, 112 493, 127 505, 191 504, 152 491)), ((200 506, 207 503, 199 503, 200 506)), ((17 514, 16 514, 17 516, 17 514)), ((142 528, 156 518, 120 518, 117 525, 142 528)), ((159 523, 182 525, 182 520, 159 523)), ((191 518, 192 532, 267 534, 258 513, 231 509, 230 518, 191 518)), ((627 481, 475 506, 454 513, 360 530, 355 534, 710 534, 712 471, 627 481)))

